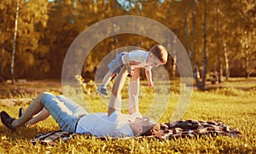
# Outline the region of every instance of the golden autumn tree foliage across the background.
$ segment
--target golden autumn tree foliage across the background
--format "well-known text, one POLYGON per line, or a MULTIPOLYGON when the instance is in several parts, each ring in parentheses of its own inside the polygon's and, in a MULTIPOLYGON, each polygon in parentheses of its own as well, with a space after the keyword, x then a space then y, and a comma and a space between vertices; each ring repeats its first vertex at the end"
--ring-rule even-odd
MULTIPOLYGON (((1 77, 5 79, 10 78, 15 3, 15 0, 0 3, 0 65, 1 77)), ((229 72, 224 71, 224 75, 255 75, 255 2, 207 0, 207 6, 207 73, 220 71, 220 65, 228 64, 229 72)), ((145 16, 167 26, 187 49, 193 68, 197 64, 202 70, 203 11, 204 0, 20 0, 15 77, 60 78, 63 60, 75 37, 92 24, 117 15, 145 16)), ((93 78, 101 60, 115 48, 149 49, 154 43, 137 35, 108 37, 90 52, 82 75, 93 78)), ((170 74, 172 64, 170 56, 165 66, 170 74)))

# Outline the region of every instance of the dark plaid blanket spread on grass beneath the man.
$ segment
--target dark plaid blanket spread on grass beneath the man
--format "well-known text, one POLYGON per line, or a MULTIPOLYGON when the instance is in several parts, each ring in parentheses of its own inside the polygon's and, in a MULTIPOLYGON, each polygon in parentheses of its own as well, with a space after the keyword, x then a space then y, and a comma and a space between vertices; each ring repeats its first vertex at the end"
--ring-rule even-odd
MULTIPOLYGON (((201 137, 201 136, 217 136, 227 135, 230 137, 241 137, 241 132, 237 129, 231 129, 229 126, 221 121, 196 121, 196 120, 182 120, 171 123, 161 123, 162 135, 156 136, 134 136, 134 137, 95 137, 100 140, 129 140, 129 139, 143 139, 143 138, 157 138, 159 140, 168 140, 179 137, 201 137)), ((35 139, 30 140, 33 144, 49 144, 55 145, 56 140, 69 140, 74 135, 84 135, 85 138, 91 136, 90 134, 76 134, 72 132, 53 131, 47 134, 38 134, 35 139)))

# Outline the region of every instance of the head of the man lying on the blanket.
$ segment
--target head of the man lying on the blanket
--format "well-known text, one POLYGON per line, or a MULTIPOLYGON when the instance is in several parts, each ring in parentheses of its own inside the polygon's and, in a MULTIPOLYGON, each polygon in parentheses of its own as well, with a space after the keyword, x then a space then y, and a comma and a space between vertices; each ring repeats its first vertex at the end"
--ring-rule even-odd
POLYGON ((160 135, 160 125, 148 117, 137 117, 131 129, 135 135, 160 135))

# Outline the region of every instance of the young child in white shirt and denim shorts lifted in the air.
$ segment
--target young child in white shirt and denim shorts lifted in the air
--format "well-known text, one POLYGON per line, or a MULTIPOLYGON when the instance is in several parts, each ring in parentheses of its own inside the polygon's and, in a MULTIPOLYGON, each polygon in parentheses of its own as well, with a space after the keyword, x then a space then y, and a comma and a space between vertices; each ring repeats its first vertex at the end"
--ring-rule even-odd
POLYGON ((143 50, 132 50, 131 52, 123 52, 117 54, 114 60, 112 60, 109 65, 108 73, 103 77, 102 84, 97 88, 99 94, 108 95, 107 85, 111 81, 112 77, 119 73, 121 68, 126 65, 128 67, 128 72, 132 76, 134 68, 145 68, 145 74, 148 79, 148 86, 154 87, 152 81, 152 67, 157 67, 160 65, 165 65, 167 62, 167 51, 162 45, 154 45, 149 52, 143 50))

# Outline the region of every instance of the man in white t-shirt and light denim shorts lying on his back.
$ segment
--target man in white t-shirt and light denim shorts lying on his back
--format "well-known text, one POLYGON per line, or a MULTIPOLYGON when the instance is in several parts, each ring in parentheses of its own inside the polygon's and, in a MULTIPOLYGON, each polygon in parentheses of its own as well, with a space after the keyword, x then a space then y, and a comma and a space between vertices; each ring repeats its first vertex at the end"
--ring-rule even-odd
POLYGON ((51 115, 62 131, 73 133, 112 137, 160 134, 160 125, 154 120, 138 117, 137 114, 121 113, 121 89, 127 75, 124 66, 113 84, 108 113, 88 113, 63 95, 54 96, 44 92, 38 95, 20 118, 15 119, 2 111, 1 121, 7 128, 15 131, 28 122, 39 122, 51 115), (36 114, 38 116, 33 117, 36 114))

